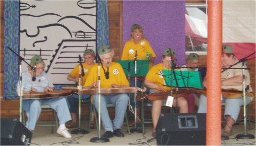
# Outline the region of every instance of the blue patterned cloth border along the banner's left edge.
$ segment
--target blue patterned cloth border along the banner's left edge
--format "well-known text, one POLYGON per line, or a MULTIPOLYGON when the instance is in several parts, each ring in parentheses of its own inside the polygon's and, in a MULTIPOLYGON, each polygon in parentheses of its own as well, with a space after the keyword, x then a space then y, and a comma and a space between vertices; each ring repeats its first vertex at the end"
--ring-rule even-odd
POLYGON ((18 57, 8 49, 19 53, 20 1, 4 1, 4 92, 3 98, 17 98, 19 79, 18 57), (17 62, 16 62, 17 61, 17 62))

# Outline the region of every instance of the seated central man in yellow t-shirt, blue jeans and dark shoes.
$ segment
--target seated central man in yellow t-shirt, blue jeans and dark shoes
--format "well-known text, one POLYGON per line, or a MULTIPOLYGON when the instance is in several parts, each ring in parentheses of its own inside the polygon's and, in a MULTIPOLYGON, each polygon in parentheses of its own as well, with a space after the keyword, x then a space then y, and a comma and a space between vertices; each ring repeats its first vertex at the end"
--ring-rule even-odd
MULTIPOLYGON (((100 88, 116 88, 116 87, 129 87, 130 84, 125 76, 122 66, 119 63, 112 62, 114 51, 110 46, 101 46, 98 50, 100 60, 100 88)), ((85 89, 98 88, 98 65, 95 64, 89 71, 89 78, 84 84, 85 89)), ((99 111, 102 118, 105 133, 102 135, 104 138, 111 138, 114 135, 117 137, 124 137, 121 132, 124 115, 127 109, 129 96, 128 94, 99 94, 94 95, 93 104, 99 111), (114 104, 116 115, 112 123, 107 104, 114 104)))

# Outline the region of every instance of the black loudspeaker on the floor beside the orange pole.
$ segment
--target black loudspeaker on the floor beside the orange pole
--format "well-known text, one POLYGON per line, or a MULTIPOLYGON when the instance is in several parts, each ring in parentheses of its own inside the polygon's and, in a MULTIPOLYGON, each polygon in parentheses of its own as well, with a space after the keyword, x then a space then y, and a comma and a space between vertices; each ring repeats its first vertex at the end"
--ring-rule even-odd
POLYGON ((205 146, 206 114, 161 114, 156 143, 161 146, 205 146))

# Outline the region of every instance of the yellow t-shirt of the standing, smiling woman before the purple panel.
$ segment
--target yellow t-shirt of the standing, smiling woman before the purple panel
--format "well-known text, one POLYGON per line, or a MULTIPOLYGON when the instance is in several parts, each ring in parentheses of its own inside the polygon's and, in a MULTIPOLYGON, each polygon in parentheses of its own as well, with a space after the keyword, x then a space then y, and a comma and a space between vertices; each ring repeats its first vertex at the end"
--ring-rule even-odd
MULTIPOLYGON (((147 52, 150 52, 152 57, 156 58, 154 50, 146 39, 141 40, 138 44, 134 44, 134 39, 130 39, 124 44, 121 60, 134 60, 136 51, 138 60, 145 60, 147 52)), ((149 63, 149 67, 151 66, 152 63, 149 63)))

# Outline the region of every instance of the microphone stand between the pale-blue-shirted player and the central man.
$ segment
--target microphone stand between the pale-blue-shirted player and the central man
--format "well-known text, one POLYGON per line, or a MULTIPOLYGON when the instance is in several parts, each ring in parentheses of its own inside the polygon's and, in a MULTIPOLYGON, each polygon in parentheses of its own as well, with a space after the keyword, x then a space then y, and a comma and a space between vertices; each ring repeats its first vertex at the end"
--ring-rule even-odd
MULTIPOLYGON (((79 83, 78 83, 78 90, 81 89, 82 85, 81 85, 81 76, 82 76, 82 71, 83 70, 83 67, 82 67, 82 63, 81 61, 79 60, 79 83)), ((83 74, 84 75, 84 74, 83 74)), ((71 97, 72 98, 72 97, 71 97)), ((81 94, 78 95, 78 129, 74 129, 71 131, 72 134, 88 134, 89 131, 85 130, 85 129, 81 129, 81 94)))

